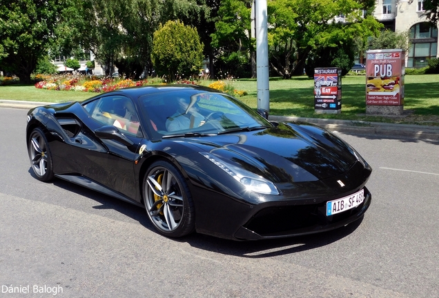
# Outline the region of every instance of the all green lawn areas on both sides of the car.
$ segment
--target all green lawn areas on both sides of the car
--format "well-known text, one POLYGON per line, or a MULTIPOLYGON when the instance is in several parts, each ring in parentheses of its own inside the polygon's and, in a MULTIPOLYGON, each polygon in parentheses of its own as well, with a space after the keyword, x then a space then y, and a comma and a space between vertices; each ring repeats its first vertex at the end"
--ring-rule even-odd
MULTIPOLYGON (((212 81, 202 81, 207 86, 212 81)), ((366 78, 363 75, 342 79, 341 114, 315 114, 313 79, 294 77, 284 80, 270 79, 270 114, 297 117, 349 119, 393 123, 418 123, 439 125, 439 74, 405 76, 404 111, 402 117, 378 117, 365 115, 366 78)), ((237 90, 248 93, 239 99, 252 108, 257 107, 256 79, 233 81, 237 90)), ((37 89, 34 86, 1 86, 0 99, 22 101, 82 101, 96 95, 91 92, 55 91, 37 89)))

